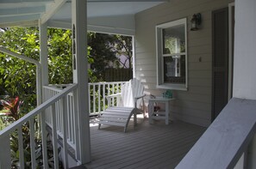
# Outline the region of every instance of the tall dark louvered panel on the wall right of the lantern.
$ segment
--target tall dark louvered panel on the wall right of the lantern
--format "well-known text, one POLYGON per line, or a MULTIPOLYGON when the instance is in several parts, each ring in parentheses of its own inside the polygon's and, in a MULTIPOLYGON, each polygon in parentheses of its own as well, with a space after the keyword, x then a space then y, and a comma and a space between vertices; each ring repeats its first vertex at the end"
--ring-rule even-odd
POLYGON ((212 12, 212 121, 228 103, 228 8, 212 12))

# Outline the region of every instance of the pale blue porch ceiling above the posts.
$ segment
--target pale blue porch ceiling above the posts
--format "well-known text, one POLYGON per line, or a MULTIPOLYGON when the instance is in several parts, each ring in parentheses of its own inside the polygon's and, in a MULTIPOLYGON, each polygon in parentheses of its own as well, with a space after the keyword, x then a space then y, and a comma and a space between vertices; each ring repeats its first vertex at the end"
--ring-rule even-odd
MULTIPOLYGON (((167 0, 88 0, 88 29, 134 34, 134 15, 167 0), (112 30, 112 29, 116 29, 112 30)), ((0 27, 38 26, 70 28, 72 0, 0 0, 0 27)))

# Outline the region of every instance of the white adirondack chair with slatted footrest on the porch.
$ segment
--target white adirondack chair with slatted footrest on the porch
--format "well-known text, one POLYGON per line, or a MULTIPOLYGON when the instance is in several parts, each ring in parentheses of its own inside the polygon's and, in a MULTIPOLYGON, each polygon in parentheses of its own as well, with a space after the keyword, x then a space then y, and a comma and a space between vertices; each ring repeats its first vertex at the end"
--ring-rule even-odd
POLYGON ((101 124, 116 125, 124 127, 126 132, 130 118, 134 115, 134 126, 137 123, 137 114, 144 111, 143 94, 144 87, 138 79, 131 79, 122 85, 120 94, 107 96, 109 107, 103 112, 98 122, 98 129, 101 124), (110 106, 112 98, 117 98, 117 106, 110 106), (139 106, 142 105, 142 109, 139 106))

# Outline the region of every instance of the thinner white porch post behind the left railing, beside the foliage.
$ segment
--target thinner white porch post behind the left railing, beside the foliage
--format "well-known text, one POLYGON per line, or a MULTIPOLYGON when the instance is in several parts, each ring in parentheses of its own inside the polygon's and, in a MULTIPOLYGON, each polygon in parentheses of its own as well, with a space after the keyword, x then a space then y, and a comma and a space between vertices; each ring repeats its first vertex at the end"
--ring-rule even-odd
MULTIPOLYGON (((40 63, 41 63, 41 88, 49 84, 48 80, 48 49, 47 49, 47 23, 41 24, 39 21, 40 32, 40 63)), ((41 100, 43 100, 43 92, 41 94, 41 100)))

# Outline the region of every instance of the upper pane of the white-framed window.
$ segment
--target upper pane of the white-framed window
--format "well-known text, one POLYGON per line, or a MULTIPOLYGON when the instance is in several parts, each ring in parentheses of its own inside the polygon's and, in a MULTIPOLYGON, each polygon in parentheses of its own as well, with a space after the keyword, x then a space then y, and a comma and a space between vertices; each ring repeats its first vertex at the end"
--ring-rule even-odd
POLYGON ((185 52, 184 24, 163 28, 163 53, 175 54, 185 52))

